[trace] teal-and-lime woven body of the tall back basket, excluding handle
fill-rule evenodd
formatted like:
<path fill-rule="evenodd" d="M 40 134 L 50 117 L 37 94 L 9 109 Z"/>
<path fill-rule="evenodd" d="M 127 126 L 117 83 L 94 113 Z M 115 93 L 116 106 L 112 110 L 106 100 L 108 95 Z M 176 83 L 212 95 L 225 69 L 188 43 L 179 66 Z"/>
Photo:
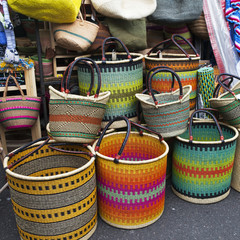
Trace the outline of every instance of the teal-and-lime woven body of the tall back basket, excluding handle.
<path fill-rule="evenodd" d="M 121 56 L 121 55 L 120 55 Z M 139 57 L 140 55 L 137 55 Z M 107 60 L 111 57 L 106 54 Z M 126 116 L 130 120 L 137 119 L 137 99 L 136 93 L 143 90 L 143 66 L 142 59 L 135 61 L 136 56 L 132 54 L 133 62 L 124 62 L 120 59 L 119 63 L 99 64 L 102 77 L 101 91 L 110 91 L 111 96 L 107 103 L 106 112 L 103 118 L 102 127 L 117 116 Z M 89 89 L 91 73 L 88 67 L 82 65 L 78 68 L 78 79 L 80 94 L 86 94 Z M 96 85 L 94 84 L 93 91 Z M 123 127 L 119 124 L 113 127 Z"/>

